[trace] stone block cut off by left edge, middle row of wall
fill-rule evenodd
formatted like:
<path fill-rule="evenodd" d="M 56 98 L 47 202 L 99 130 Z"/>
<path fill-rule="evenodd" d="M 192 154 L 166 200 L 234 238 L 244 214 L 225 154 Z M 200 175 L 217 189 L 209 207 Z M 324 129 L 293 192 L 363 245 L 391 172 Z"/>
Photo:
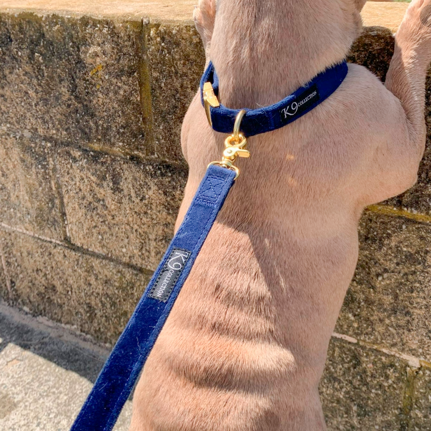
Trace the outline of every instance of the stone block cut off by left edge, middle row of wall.
<path fill-rule="evenodd" d="M 52 147 L 29 131 L 0 131 L 0 222 L 61 240 L 66 231 Z"/>

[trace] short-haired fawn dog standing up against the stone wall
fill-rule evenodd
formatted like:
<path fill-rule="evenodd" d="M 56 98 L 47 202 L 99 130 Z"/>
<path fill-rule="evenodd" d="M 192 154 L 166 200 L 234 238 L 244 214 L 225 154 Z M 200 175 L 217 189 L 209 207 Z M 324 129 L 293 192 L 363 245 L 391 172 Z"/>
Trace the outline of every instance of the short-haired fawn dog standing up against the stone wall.
<path fill-rule="evenodd" d="M 230 108 L 270 105 L 342 61 L 365 0 L 200 0 L 194 19 Z M 133 431 L 325 430 L 318 384 L 358 257 L 365 206 L 417 179 L 425 147 L 431 0 L 413 0 L 383 85 L 365 67 L 250 159 L 136 387 Z M 176 227 L 225 135 L 197 95 Z"/>

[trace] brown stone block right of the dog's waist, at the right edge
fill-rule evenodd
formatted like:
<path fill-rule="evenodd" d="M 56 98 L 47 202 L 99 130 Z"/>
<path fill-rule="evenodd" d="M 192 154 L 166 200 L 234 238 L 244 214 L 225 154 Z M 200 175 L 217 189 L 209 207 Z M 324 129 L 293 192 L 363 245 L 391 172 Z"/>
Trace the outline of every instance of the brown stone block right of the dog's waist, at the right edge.
<path fill-rule="evenodd" d="M 336 332 L 431 359 L 431 225 L 365 212 Z"/>

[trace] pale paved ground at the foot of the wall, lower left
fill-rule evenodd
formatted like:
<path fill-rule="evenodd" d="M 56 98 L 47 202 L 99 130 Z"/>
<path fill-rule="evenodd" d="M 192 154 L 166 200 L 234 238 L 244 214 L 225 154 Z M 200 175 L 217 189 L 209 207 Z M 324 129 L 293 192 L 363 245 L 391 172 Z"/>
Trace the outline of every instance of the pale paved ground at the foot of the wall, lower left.
<path fill-rule="evenodd" d="M 0 430 L 67 431 L 108 350 L 0 303 Z M 131 403 L 115 431 L 126 431 Z"/>

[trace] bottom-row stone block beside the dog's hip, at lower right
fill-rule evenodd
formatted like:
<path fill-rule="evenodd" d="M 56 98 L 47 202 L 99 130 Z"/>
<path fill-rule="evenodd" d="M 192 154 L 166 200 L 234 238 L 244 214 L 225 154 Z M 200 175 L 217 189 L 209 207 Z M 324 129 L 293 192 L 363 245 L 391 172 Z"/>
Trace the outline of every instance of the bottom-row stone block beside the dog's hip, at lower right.
<path fill-rule="evenodd" d="M 320 384 L 328 431 L 406 430 L 406 375 L 400 359 L 332 338 Z"/>

